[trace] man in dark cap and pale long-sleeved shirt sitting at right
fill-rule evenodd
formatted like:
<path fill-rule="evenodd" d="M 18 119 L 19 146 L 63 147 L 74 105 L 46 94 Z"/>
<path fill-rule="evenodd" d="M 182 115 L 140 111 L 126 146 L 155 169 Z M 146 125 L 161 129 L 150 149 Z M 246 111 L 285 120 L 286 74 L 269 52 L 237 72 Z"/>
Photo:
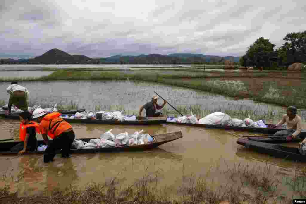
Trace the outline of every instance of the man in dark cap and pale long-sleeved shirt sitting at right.
<path fill-rule="evenodd" d="M 296 138 L 302 130 L 302 120 L 301 117 L 297 115 L 297 108 L 294 106 L 289 106 L 287 108 L 287 114 L 283 115 L 281 121 L 278 124 L 273 125 L 269 128 L 276 128 L 282 124 L 287 123 L 287 130 L 281 130 L 274 134 L 274 136 L 284 136 L 287 140 Z"/>

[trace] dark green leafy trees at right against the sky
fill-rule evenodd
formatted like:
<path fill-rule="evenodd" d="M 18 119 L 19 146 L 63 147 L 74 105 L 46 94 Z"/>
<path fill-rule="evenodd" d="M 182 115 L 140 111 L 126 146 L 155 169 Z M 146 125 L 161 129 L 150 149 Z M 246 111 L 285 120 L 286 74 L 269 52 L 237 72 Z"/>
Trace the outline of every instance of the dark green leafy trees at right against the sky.
<path fill-rule="evenodd" d="M 295 62 L 306 64 L 306 31 L 288 33 L 283 40 L 285 43 L 274 50 L 269 39 L 258 38 L 240 58 L 240 65 L 285 69 Z"/>

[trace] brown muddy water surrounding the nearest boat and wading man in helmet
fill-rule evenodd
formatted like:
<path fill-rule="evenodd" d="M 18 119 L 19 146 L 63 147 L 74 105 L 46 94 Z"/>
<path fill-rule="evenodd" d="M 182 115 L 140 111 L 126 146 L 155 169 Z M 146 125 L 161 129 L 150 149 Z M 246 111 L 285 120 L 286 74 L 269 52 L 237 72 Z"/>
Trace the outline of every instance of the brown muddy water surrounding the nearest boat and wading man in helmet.
<path fill-rule="evenodd" d="M 277 121 L 269 121 L 277 122 Z M 236 144 L 237 138 L 245 134 L 239 131 L 205 129 L 198 127 L 161 124 L 136 125 L 95 125 L 72 124 L 77 138 L 99 137 L 113 129 L 114 134 L 127 131 L 133 133 L 144 129 L 149 134 L 181 131 L 183 138 L 144 152 L 88 153 L 73 154 L 71 158 L 55 157 L 52 163 L 44 164 L 43 156 L 3 155 L 0 156 L 0 177 L 2 185 L 10 185 L 19 195 L 33 195 L 39 191 L 50 191 L 54 187 L 64 189 L 84 187 L 89 182 L 114 180 L 118 187 L 125 187 L 141 179 L 159 189 L 177 191 L 188 182 L 188 178 L 201 176 L 214 180 L 214 184 L 227 183 L 228 177 L 222 172 L 235 166 L 249 165 L 271 169 L 285 175 L 293 175 L 294 168 L 306 167 L 303 163 L 285 161 L 266 154 L 246 150 Z M 18 121 L 0 119 L 1 138 L 18 137 Z M 306 124 L 303 124 L 306 128 Z M 38 135 L 41 139 L 41 135 Z"/>

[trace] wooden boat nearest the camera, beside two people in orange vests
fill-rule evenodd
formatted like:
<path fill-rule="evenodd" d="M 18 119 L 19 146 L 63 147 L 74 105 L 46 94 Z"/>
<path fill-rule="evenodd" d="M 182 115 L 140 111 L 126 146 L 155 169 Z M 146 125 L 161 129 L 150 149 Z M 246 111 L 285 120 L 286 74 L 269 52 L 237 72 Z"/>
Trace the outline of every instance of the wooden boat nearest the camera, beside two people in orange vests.
<path fill-rule="evenodd" d="M 71 149 L 71 153 L 95 153 L 95 152 L 118 152 L 118 151 L 143 151 L 158 147 L 159 145 L 180 139 L 183 137 L 182 132 L 170 132 L 166 134 L 151 135 L 153 141 L 147 144 L 118 146 L 108 148 L 91 148 L 91 149 Z M 96 138 L 80 138 L 84 142 L 89 142 L 90 139 Z M 38 140 L 38 145 L 44 144 L 43 140 Z M 11 152 L 10 149 L 21 142 L 3 142 L 0 143 L 0 154 L 17 154 Z M 59 151 L 58 151 L 59 152 Z M 43 153 L 43 152 L 26 152 L 26 153 Z"/>

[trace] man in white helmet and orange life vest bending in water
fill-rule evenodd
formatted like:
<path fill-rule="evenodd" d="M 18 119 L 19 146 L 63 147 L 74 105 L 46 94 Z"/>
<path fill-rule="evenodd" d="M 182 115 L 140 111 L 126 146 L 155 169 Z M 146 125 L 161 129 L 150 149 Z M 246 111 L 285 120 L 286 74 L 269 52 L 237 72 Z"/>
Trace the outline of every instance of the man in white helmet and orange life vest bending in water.
<path fill-rule="evenodd" d="M 70 148 L 74 140 L 72 126 L 59 116 L 61 113 L 45 113 L 43 109 L 38 108 L 33 111 L 32 117 L 39 123 L 39 129 L 46 144 L 49 143 L 47 135 L 53 139 L 43 155 L 43 162 L 53 161 L 56 150 L 62 150 L 62 157 L 68 158 Z"/>

